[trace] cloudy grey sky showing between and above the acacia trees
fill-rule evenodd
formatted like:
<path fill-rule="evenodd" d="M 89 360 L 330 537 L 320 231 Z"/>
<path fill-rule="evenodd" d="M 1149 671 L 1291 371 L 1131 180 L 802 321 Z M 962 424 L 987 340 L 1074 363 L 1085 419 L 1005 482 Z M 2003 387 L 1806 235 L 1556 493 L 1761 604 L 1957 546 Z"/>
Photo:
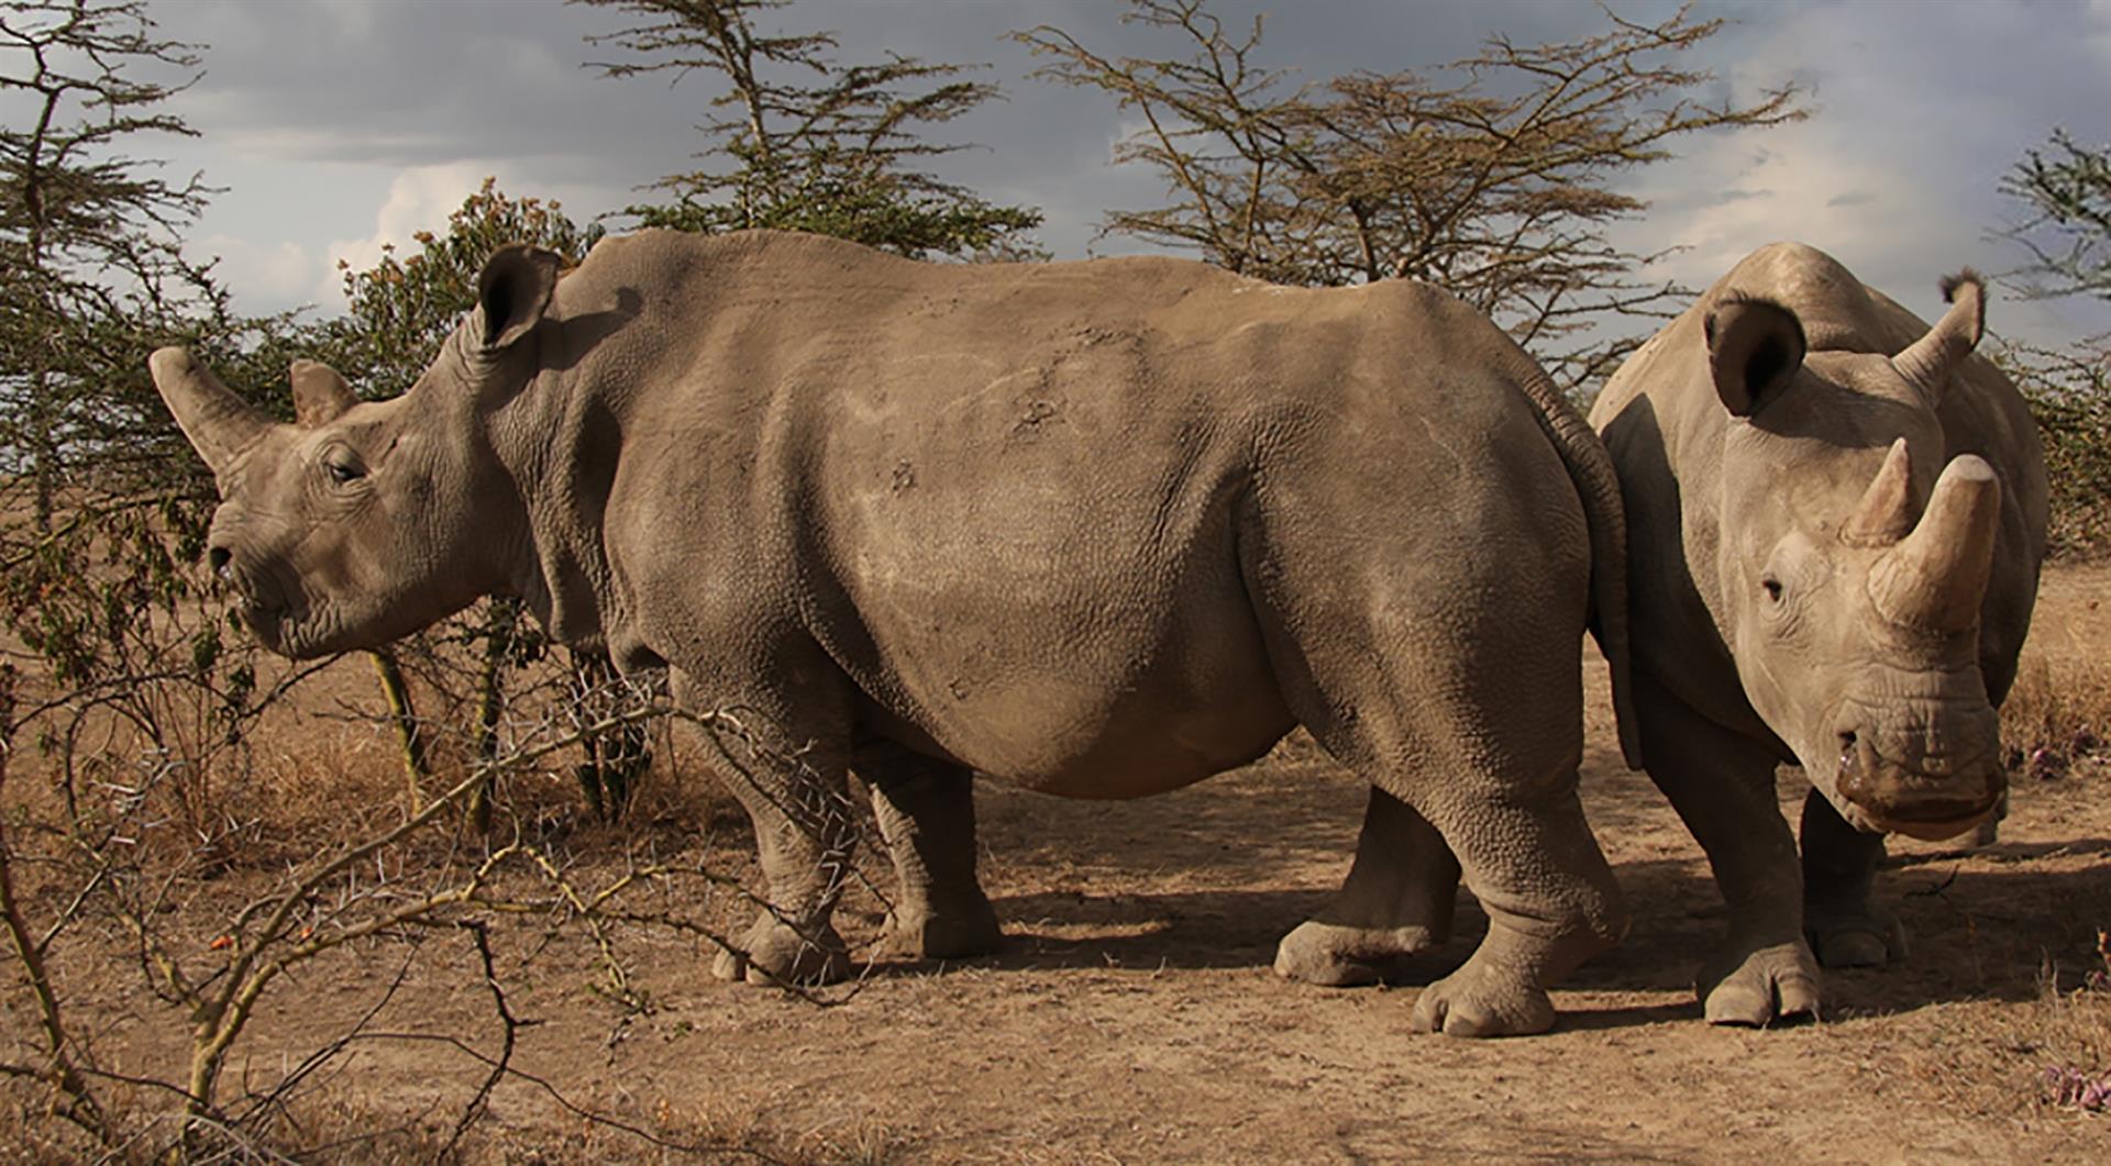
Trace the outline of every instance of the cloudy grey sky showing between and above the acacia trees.
<path fill-rule="evenodd" d="M 1039 207 L 1058 259 L 1134 253 L 1098 238 L 1108 209 L 1155 207 L 1161 181 L 1112 164 L 1115 101 L 1034 80 L 1011 30 L 1047 23 L 1108 55 L 1169 55 L 1112 0 L 794 0 L 766 27 L 834 30 L 840 61 L 904 53 L 986 63 L 1005 99 L 942 127 L 973 143 L 937 169 L 992 202 Z M 1324 82 L 1471 55 L 1490 34 L 1568 40 L 1604 27 L 1581 0 L 1214 0 L 1231 25 L 1267 15 L 1262 61 Z M 1672 4 L 1613 0 L 1628 19 Z M 137 145 L 220 188 L 192 230 L 198 257 L 247 312 L 342 310 L 336 261 L 443 226 L 486 175 L 574 219 L 616 211 L 690 164 L 714 76 L 612 80 L 585 42 L 629 17 L 557 0 L 150 0 L 160 32 L 201 46 L 205 76 L 171 101 L 198 131 Z M 1701 2 L 1733 21 L 1691 57 L 1739 101 L 1796 82 L 1799 124 L 1685 139 L 1678 158 L 1621 190 L 1649 211 L 1619 228 L 1636 249 L 1678 249 L 1649 272 L 1706 287 L 1773 240 L 1811 242 L 1923 316 L 1938 276 L 2022 261 L 1993 228 L 2018 205 L 2001 175 L 2054 127 L 2111 141 L 2111 0 Z M 2100 304 L 1999 299 L 1989 325 L 2062 344 L 2111 329 Z"/>

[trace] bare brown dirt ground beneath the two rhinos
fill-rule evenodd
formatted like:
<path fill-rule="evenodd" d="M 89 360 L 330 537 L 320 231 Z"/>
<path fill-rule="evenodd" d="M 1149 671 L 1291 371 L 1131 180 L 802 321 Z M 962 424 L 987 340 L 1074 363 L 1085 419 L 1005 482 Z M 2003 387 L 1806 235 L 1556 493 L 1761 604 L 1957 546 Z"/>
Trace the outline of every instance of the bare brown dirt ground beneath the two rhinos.
<path fill-rule="evenodd" d="M 2111 609 L 2098 599 L 2111 569 L 2054 571 L 2031 654 L 2103 660 Z M 1649 780 L 1617 763 L 1602 689 L 1590 730 L 1585 805 L 1636 924 L 1556 991 L 1549 1035 L 1408 1031 L 1414 985 L 1480 938 L 1471 900 L 1450 945 L 1397 987 L 1330 991 L 1271 972 L 1275 940 L 1347 871 L 1364 805 L 1362 786 L 1292 738 L 1248 770 L 1134 803 L 980 786 L 984 877 L 1009 949 L 878 964 L 836 1006 L 714 983 L 697 942 L 663 936 L 625 942 L 652 997 L 625 1012 L 591 991 L 585 945 L 530 951 L 532 936 L 513 936 L 500 966 L 530 1023 L 513 1065 L 564 1103 L 528 1080 L 500 1084 L 473 1155 L 682 1158 L 570 1103 L 673 1143 L 828 1162 L 2111 1160 L 2111 1115 L 2037 1103 L 2073 1023 L 2048 970 L 2075 987 L 2111 928 L 2111 774 L 2022 778 L 1991 848 L 1896 843 L 1879 896 L 1900 911 L 1910 959 L 1828 972 L 1822 1023 L 1716 1029 L 1691 991 L 1723 926 L 1714 883 Z M 1784 774 L 1790 814 L 1801 797 Z M 739 822 L 716 831 L 722 869 L 752 877 L 747 846 Z M 728 896 L 722 915 L 745 907 Z M 842 913 L 853 945 L 880 921 L 870 898 Z M 492 999 L 454 947 L 376 1031 L 496 1052 Z M 281 985 L 236 1065 L 283 1069 L 393 972 L 376 949 Z M 103 1004 L 106 1048 L 146 1056 L 154 1004 Z M 483 1069 L 445 1044 L 372 1039 L 331 1073 L 348 1122 L 443 1130 Z"/>

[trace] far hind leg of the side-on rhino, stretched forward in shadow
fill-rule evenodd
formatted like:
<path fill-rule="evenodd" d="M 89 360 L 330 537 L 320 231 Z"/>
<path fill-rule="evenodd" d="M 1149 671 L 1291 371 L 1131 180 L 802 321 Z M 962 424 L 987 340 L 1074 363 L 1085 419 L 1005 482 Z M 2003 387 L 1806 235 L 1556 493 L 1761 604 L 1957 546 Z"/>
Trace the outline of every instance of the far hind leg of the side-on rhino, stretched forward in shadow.
<path fill-rule="evenodd" d="M 1391 978 L 1450 936 L 1459 858 L 1412 805 L 1370 789 L 1355 862 L 1334 898 L 1275 949 L 1275 972 L 1313 985 Z"/>

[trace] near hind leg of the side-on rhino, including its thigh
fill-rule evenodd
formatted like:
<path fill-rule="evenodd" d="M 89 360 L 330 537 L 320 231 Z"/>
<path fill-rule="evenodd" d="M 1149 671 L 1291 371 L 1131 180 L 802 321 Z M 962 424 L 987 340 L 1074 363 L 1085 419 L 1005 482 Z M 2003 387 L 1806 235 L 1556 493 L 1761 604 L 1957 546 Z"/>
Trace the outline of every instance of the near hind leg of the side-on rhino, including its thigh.
<path fill-rule="evenodd" d="M 1421 510 L 1446 514 L 1446 491 L 1471 489 L 1486 529 L 1535 531 L 1558 506 L 1514 483 L 1480 491 L 1484 483 L 1459 481 L 1425 481 Z M 1488 915 L 1473 955 L 1416 995 L 1410 1027 L 1473 1037 L 1545 1031 L 1547 989 L 1628 928 L 1619 883 L 1577 799 L 1583 552 L 1480 527 L 1454 542 L 1454 531 L 1429 523 L 1345 536 L 1336 514 L 1397 514 L 1400 481 L 1326 483 L 1338 495 L 1324 521 L 1288 510 L 1309 502 L 1302 491 L 1256 495 L 1260 512 L 1239 550 L 1290 713 L 1336 761 L 1431 827 Z M 1497 512 L 1505 504 L 1518 510 L 1514 525 Z M 1366 879 L 1412 890 L 1425 926 L 1438 924 L 1438 854 L 1389 856 L 1406 871 L 1366 867 Z M 1414 864 L 1425 864 L 1421 875 Z M 1292 959 L 1305 945 L 1296 940 Z"/>

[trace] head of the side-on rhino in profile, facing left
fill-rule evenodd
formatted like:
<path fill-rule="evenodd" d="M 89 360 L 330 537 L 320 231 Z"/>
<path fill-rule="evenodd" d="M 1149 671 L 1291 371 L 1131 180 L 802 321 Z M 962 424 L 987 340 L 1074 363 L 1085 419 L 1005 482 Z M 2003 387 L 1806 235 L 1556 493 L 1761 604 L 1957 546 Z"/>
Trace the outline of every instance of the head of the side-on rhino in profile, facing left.
<path fill-rule="evenodd" d="M 528 527 L 486 417 L 534 375 L 528 337 L 555 280 L 547 251 L 492 255 L 477 308 L 393 401 L 359 401 L 329 367 L 296 361 L 293 424 L 190 352 L 154 352 L 154 388 L 220 487 L 209 563 L 266 647 L 378 647 L 509 586 Z"/>

